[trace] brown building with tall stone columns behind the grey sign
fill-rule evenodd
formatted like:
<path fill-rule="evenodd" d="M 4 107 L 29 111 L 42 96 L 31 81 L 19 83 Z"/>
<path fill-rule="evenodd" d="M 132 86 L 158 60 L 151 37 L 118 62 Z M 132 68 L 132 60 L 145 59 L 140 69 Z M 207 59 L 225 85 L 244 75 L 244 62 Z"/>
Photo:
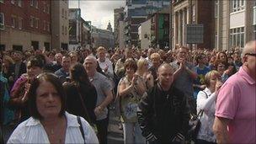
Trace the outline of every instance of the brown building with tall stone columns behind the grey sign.
<path fill-rule="evenodd" d="M 203 24 L 203 43 L 192 45 L 198 48 L 214 48 L 214 2 L 204 0 L 173 0 L 172 13 L 172 47 L 188 45 L 186 40 L 186 24 Z M 191 45 L 188 45 L 190 48 Z"/>

